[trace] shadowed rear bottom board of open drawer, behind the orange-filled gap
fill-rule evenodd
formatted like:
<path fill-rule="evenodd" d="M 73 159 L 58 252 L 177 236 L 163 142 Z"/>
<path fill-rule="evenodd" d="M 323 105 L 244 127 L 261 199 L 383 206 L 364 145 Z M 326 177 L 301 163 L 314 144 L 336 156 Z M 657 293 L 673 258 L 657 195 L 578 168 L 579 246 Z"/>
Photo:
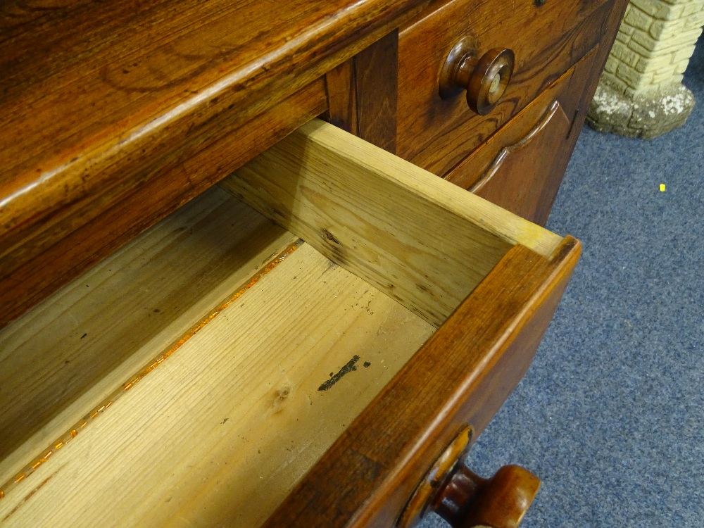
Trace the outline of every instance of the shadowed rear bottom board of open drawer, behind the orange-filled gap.
<path fill-rule="evenodd" d="M 0 486 L 296 239 L 214 188 L 0 330 Z"/>

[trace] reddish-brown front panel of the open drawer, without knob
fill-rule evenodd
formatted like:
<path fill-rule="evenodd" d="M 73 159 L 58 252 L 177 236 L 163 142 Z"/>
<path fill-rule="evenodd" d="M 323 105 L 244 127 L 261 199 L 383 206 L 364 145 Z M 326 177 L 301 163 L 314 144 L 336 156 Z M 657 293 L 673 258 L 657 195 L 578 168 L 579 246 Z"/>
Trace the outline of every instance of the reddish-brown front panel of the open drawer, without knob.
<path fill-rule="evenodd" d="M 432 460 L 520 380 L 578 258 L 570 237 L 549 259 L 511 249 L 265 526 L 392 526 Z"/>

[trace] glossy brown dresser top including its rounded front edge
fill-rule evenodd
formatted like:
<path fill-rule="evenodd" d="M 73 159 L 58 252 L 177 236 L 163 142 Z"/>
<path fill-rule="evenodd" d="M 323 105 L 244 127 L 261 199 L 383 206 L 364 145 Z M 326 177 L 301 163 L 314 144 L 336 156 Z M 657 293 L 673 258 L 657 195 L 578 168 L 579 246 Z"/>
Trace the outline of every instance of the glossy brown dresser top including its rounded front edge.
<path fill-rule="evenodd" d="M 134 177 L 215 118 L 261 113 L 417 4 L 3 2 L 0 256 L 15 231 Z"/>

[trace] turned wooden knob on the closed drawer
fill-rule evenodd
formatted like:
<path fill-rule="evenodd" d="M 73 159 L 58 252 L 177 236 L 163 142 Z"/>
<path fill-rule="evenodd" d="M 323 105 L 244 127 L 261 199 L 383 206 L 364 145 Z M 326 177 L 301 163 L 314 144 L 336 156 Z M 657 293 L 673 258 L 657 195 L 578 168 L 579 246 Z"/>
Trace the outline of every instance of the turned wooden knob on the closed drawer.
<path fill-rule="evenodd" d="M 451 99 L 465 89 L 467 105 L 486 115 L 506 92 L 514 64 L 510 49 L 494 48 L 478 57 L 476 41 L 464 37 L 453 46 L 440 71 L 440 96 Z"/>

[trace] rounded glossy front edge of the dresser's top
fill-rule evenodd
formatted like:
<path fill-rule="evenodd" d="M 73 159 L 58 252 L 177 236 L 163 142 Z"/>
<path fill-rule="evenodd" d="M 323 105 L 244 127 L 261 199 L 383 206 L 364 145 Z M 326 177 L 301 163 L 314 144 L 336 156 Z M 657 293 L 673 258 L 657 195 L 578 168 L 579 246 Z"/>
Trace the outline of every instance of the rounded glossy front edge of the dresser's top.
<path fill-rule="evenodd" d="M 295 42 L 268 54 L 265 64 L 240 68 L 227 76 L 227 82 L 218 82 L 217 89 L 203 87 L 191 97 L 192 103 L 179 101 L 176 109 L 166 109 L 108 139 L 96 139 L 80 153 L 44 160 L 39 172 L 17 175 L 22 187 L 0 196 L 0 268 L 8 254 L 23 253 L 12 259 L 22 265 L 78 230 L 92 220 L 86 212 L 96 204 L 105 210 L 106 204 L 118 203 L 124 196 L 117 195 L 125 187 L 144 184 L 145 165 L 168 163 L 185 146 L 212 141 L 213 128 L 221 119 L 245 125 L 394 31 L 427 3 L 358 2 L 322 21 L 321 27 L 306 28 Z M 70 227 L 58 226 L 69 217 Z M 6 273 L 0 269 L 0 275 Z"/>

